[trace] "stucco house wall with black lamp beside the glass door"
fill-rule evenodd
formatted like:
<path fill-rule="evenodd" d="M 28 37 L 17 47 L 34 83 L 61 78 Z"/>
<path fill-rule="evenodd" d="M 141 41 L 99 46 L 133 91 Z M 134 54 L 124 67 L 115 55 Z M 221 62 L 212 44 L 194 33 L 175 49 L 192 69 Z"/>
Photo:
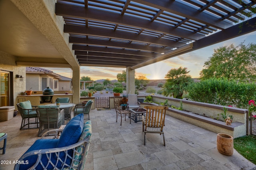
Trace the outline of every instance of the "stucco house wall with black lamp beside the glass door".
<path fill-rule="evenodd" d="M 18 102 L 17 95 L 20 95 L 20 92 L 26 90 L 26 67 L 18 67 L 15 62 L 15 57 L 3 51 L 0 51 L 0 61 L 1 70 L 13 72 L 13 101 L 14 106 L 16 106 Z M 16 74 L 22 75 L 22 77 L 24 77 L 23 81 L 16 79 Z"/>

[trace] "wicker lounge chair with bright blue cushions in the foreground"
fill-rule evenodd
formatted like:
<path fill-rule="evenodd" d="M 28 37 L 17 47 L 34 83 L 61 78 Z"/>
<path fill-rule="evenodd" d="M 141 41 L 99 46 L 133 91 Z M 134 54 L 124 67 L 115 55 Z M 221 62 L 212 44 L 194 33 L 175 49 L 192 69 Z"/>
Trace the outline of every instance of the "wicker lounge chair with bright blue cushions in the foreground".
<path fill-rule="evenodd" d="M 19 159 L 26 164 L 15 164 L 14 170 L 54 169 L 82 170 L 90 144 L 91 121 L 84 122 L 83 114 L 74 117 L 64 129 L 50 130 L 55 132 L 52 139 L 38 139 Z M 58 132 L 62 131 L 60 138 Z M 46 132 L 45 134 L 47 134 Z"/>

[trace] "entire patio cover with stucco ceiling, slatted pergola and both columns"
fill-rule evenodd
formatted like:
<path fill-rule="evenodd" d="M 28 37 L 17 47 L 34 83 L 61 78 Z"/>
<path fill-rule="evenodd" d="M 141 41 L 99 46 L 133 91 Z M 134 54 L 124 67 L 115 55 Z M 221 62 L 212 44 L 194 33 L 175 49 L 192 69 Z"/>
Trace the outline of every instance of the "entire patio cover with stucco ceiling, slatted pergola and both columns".
<path fill-rule="evenodd" d="M 56 2 L 56 3 L 55 3 Z M 0 51 L 18 66 L 134 69 L 256 30 L 256 0 L 2 0 Z"/>

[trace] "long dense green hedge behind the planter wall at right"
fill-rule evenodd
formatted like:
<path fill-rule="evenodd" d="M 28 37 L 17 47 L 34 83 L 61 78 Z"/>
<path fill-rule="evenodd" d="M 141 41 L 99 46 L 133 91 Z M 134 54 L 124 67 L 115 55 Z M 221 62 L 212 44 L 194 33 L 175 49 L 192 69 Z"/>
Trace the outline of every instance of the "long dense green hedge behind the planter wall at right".
<path fill-rule="evenodd" d="M 193 101 L 216 105 L 232 105 L 248 109 L 248 101 L 256 99 L 256 84 L 243 83 L 225 78 L 212 78 L 192 83 L 187 87 L 188 97 Z"/>

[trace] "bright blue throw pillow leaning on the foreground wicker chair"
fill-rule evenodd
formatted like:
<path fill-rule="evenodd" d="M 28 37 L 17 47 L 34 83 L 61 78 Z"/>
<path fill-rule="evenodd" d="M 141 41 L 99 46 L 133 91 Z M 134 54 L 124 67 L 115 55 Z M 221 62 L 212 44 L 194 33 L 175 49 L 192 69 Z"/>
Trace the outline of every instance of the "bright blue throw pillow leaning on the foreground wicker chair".
<path fill-rule="evenodd" d="M 57 148 L 75 144 L 82 134 L 84 128 L 84 114 L 76 115 L 63 129 Z"/>

